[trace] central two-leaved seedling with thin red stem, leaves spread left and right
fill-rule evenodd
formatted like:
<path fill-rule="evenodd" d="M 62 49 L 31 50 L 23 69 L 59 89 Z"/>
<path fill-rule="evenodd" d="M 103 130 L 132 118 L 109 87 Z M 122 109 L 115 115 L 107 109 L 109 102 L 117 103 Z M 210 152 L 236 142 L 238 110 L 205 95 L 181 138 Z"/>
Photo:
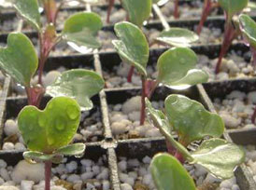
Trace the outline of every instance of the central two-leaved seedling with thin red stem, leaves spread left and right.
<path fill-rule="evenodd" d="M 157 62 L 157 79 L 149 79 L 146 71 L 149 45 L 145 35 L 137 26 L 129 22 L 117 23 L 115 32 L 120 40 L 113 40 L 112 43 L 121 60 L 134 66 L 141 76 L 141 125 L 145 121 L 145 98 L 150 98 L 160 84 L 169 88 L 189 88 L 207 81 L 206 72 L 194 68 L 197 57 L 188 47 L 173 47 L 165 51 Z"/>

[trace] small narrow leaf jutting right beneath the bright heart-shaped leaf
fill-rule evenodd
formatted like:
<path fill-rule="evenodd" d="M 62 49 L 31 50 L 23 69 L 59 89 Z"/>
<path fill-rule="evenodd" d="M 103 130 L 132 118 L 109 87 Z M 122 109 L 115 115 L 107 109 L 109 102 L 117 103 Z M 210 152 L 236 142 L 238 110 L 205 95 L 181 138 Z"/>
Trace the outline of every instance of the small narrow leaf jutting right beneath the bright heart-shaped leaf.
<path fill-rule="evenodd" d="M 55 153 L 61 154 L 64 156 L 78 156 L 82 155 L 85 151 L 84 143 L 73 143 L 62 148 L 59 148 Z"/>

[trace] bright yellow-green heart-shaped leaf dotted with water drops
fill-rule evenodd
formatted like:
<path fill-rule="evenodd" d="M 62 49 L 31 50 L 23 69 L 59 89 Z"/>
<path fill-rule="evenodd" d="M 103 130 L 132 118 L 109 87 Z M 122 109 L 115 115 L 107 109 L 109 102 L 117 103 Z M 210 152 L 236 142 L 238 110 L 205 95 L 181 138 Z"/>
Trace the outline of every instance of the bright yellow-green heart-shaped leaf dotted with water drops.
<path fill-rule="evenodd" d="M 25 106 L 18 115 L 18 126 L 28 148 L 44 154 L 71 142 L 78 130 L 80 107 L 68 97 L 53 98 L 45 110 Z"/>

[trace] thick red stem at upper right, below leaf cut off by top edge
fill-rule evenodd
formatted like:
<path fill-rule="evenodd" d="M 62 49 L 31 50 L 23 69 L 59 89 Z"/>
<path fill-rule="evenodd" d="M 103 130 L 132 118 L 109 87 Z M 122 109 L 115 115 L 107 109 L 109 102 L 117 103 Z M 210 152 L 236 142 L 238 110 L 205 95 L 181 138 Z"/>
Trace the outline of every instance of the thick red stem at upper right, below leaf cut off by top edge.
<path fill-rule="evenodd" d="M 226 21 L 226 25 L 225 25 L 224 39 L 223 39 L 222 46 L 220 49 L 219 60 L 217 62 L 216 68 L 215 68 L 216 75 L 220 73 L 221 61 L 222 61 L 223 57 L 226 55 L 234 38 L 235 38 L 235 29 L 233 27 L 232 21 L 228 20 L 228 21 Z"/>

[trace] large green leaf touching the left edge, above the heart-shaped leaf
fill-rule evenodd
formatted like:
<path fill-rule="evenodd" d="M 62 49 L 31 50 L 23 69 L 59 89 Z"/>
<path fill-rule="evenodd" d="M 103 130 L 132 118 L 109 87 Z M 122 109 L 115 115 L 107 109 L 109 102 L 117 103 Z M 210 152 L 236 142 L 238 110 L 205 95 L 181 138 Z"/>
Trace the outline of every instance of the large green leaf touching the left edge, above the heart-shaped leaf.
<path fill-rule="evenodd" d="M 29 38 L 21 33 L 7 36 L 7 47 L 0 47 L 0 67 L 22 86 L 29 87 L 36 73 L 38 58 Z"/>

